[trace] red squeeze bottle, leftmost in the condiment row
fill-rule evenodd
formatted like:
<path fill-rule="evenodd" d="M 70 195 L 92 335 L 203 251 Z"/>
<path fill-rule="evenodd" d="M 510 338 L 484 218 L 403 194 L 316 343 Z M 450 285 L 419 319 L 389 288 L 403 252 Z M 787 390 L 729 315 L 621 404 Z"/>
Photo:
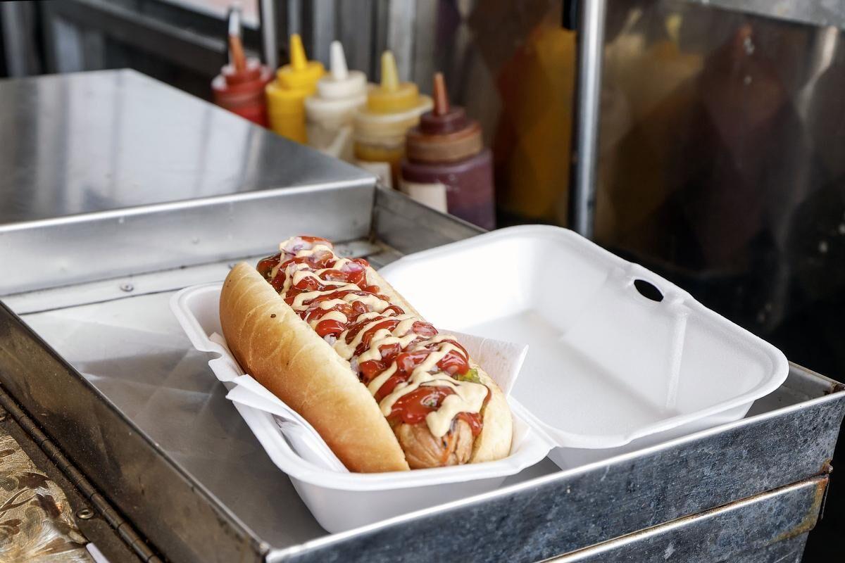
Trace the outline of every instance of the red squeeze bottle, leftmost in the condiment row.
<path fill-rule="evenodd" d="M 221 68 L 221 73 L 211 81 L 214 102 L 261 127 L 267 127 L 264 86 L 273 78 L 273 73 L 258 59 L 244 55 L 237 10 L 232 12 L 229 22 L 230 62 Z"/>

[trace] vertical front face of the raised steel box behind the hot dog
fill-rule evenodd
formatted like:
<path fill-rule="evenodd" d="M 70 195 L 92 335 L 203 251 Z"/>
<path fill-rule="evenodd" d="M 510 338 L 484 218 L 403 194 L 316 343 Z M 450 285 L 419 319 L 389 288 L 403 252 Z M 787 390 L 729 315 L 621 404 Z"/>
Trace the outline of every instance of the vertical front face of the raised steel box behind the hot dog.
<path fill-rule="evenodd" d="M 14 263 L 0 295 L 258 254 L 313 225 L 333 240 L 363 238 L 374 189 L 362 178 L 0 225 L 0 257 Z M 286 221 L 276 220 L 281 205 Z M 45 276 L 38 257 L 55 253 L 57 241 L 57 273 Z"/>

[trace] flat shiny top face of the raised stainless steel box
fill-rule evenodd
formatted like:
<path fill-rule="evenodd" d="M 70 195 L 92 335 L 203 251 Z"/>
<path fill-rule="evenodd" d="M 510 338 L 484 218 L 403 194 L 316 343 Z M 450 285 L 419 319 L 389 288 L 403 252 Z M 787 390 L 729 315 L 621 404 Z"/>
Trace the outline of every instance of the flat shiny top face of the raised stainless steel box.
<path fill-rule="evenodd" d="M 0 80 L 0 225 L 368 181 L 133 70 Z"/>

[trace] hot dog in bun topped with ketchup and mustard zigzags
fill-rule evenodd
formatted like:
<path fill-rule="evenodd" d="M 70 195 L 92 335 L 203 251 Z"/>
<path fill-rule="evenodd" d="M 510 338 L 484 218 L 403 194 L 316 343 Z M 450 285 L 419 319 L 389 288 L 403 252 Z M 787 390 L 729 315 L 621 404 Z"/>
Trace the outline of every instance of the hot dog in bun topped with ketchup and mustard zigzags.
<path fill-rule="evenodd" d="M 223 284 L 223 335 L 238 362 L 296 409 L 351 471 L 505 457 L 504 394 L 362 258 L 297 236 Z"/>

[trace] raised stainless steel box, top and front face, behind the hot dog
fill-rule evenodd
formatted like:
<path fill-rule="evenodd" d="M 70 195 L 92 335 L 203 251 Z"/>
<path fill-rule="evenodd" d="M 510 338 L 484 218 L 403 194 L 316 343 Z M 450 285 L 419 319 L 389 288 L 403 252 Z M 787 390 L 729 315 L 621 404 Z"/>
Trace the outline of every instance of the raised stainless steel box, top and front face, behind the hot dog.
<path fill-rule="evenodd" d="M 373 176 L 134 71 L 0 80 L 0 138 L 0 295 L 368 233 Z"/>

